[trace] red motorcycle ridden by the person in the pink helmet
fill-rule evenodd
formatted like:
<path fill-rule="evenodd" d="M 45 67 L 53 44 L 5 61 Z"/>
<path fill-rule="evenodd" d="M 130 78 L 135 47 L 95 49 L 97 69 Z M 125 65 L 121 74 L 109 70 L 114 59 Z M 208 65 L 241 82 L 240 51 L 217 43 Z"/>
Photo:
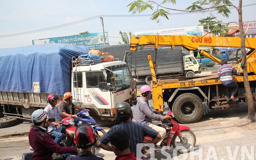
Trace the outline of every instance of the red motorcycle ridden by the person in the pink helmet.
<path fill-rule="evenodd" d="M 161 146 L 167 146 L 166 149 L 170 149 L 172 145 L 174 149 L 178 150 L 179 153 L 188 153 L 196 144 L 196 135 L 190 127 L 180 126 L 178 122 L 174 121 L 172 118 L 171 111 L 164 111 L 163 116 L 169 115 L 171 118 L 169 120 L 164 120 L 162 127 L 166 128 L 166 136 L 161 143 Z M 145 137 L 144 143 L 150 143 L 152 138 Z"/>

